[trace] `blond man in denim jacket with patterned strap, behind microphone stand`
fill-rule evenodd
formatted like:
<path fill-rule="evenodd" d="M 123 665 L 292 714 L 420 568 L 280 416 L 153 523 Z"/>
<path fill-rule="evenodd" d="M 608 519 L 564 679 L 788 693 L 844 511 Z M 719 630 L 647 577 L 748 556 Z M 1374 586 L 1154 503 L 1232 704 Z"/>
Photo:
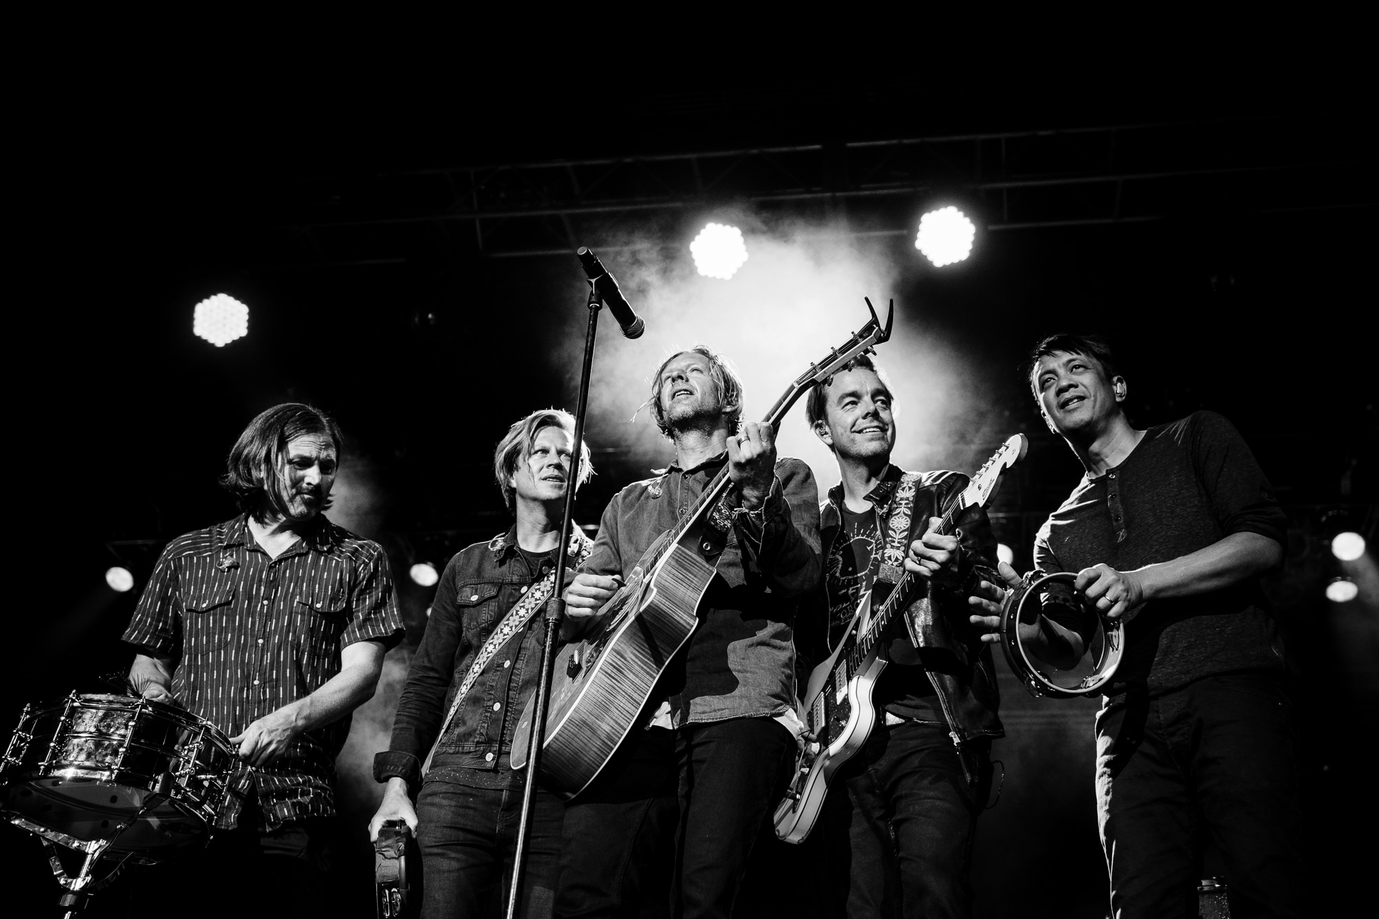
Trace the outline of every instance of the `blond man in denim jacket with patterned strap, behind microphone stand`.
<path fill-rule="evenodd" d="M 550 408 L 521 418 L 498 443 L 494 476 L 514 524 L 445 566 L 392 741 L 374 760 L 387 789 L 370 833 L 376 839 L 385 820 L 405 820 L 416 833 L 423 919 L 483 916 L 507 902 L 525 781 L 509 751 L 541 679 L 574 433 L 570 413 Z M 590 475 L 585 446 L 576 487 Z M 568 570 L 587 545 L 576 528 Z M 538 789 L 532 807 L 521 915 L 538 919 L 550 915 L 560 875 L 564 804 Z"/>

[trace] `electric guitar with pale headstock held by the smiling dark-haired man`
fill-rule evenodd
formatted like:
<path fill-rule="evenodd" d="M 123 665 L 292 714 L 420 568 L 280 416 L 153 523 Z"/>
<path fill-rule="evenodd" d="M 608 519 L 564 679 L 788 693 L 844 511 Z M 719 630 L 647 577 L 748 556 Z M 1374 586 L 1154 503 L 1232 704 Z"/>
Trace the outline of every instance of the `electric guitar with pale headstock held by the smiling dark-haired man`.
<path fill-rule="evenodd" d="M 952 533 L 954 520 L 967 508 L 986 506 L 1000 487 L 1001 476 L 1025 457 L 1027 448 L 1025 435 L 1007 440 L 943 515 L 938 533 Z M 829 781 L 872 735 L 877 716 L 872 690 L 887 664 L 877 657 L 881 635 L 910 606 L 924 582 L 920 575 L 906 571 L 876 610 L 870 610 L 872 592 L 867 591 L 858 603 L 845 638 L 829 660 L 809 673 L 800 712 L 808 727 L 808 742 L 796 762 L 790 789 L 775 811 L 776 836 L 785 842 L 804 842 L 823 807 Z"/>

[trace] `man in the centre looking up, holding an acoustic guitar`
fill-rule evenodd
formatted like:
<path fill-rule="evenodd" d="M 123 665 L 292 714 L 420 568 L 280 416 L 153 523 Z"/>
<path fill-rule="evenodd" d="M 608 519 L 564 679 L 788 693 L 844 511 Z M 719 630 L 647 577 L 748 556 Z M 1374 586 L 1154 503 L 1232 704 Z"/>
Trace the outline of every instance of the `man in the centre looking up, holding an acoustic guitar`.
<path fill-rule="evenodd" d="M 793 621 L 821 575 L 814 476 L 798 460 L 776 460 L 771 425 L 741 419 L 742 384 L 705 346 L 663 362 L 648 403 L 674 443 L 674 462 L 612 498 L 589 560 L 565 591 L 568 614 L 576 624 L 592 620 L 724 465 L 735 488 L 709 513 L 709 526 L 725 548 L 699 603 L 699 625 L 663 679 L 666 705 L 654 722 L 662 727 L 634 730 L 619 753 L 632 764 L 567 809 L 561 916 L 637 915 L 654 900 L 647 879 L 662 833 L 674 825 L 656 764 L 669 766 L 672 749 L 672 908 L 677 916 L 728 916 L 801 729 Z"/>

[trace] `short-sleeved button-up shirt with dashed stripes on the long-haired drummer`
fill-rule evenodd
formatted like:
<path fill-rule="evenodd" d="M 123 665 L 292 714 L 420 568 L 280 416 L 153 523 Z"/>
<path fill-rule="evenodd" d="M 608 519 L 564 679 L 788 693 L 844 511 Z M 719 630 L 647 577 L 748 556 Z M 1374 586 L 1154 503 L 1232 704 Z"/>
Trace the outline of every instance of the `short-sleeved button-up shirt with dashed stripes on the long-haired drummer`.
<path fill-rule="evenodd" d="M 341 649 L 403 638 L 383 549 L 320 519 L 276 559 L 248 516 L 168 544 L 124 640 L 177 662 L 172 695 L 225 735 L 310 695 L 341 671 Z M 239 822 L 256 791 L 269 829 L 335 813 L 335 758 L 350 716 L 306 731 L 263 767 L 240 763 L 217 827 Z"/>

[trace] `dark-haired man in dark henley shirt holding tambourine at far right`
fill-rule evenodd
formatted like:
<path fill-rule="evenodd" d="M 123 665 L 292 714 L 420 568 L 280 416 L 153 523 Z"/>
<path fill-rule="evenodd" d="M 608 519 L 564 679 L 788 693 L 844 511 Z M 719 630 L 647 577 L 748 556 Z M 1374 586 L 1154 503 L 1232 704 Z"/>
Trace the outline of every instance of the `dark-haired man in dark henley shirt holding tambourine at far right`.
<path fill-rule="evenodd" d="M 1085 602 L 1125 621 L 1096 716 L 1114 915 L 1196 916 L 1208 832 L 1233 915 L 1307 915 L 1296 740 L 1259 585 L 1281 564 L 1287 530 L 1263 471 L 1209 411 L 1135 429 L 1098 337 L 1041 341 L 1029 384 L 1087 471 L 1040 530 L 1034 564 L 1076 571 Z M 1003 569 L 1007 584 L 1014 574 Z M 997 596 L 974 599 L 986 613 L 975 622 L 998 625 Z"/>

